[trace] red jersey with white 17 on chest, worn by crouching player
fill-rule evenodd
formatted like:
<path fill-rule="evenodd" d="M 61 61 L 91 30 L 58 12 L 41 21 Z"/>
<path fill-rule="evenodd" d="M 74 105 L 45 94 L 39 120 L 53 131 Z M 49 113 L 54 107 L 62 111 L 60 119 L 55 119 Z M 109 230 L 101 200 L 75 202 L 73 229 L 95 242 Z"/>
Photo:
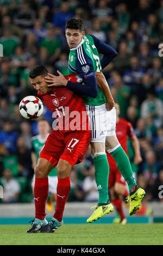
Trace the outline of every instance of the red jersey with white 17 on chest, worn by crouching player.
<path fill-rule="evenodd" d="M 67 80 L 81 83 L 79 75 L 65 76 Z M 82 97 L 74 94 L 67 87 L 53 87 L 49 93 L 37 93 L 46 107 L 52 111 L 53 117 L 57 119 L 56 130 L 74 131 L 90 130 L 89 120 Z M 55 129 L 55 127 L 53 127 Z"/>

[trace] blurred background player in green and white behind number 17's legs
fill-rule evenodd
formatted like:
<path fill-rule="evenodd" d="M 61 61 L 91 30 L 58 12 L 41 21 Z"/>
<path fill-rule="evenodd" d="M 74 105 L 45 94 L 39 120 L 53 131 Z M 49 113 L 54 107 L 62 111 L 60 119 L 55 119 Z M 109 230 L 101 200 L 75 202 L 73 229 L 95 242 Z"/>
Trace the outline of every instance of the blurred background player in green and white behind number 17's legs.
<path fill-rule="evenodd" d="M 39 120 L 37 123 L 37 130 L 39 132 L 39 135 L 36 135 L 32 137 L 32 167 L 35 168 L 37 164 L 37 160 L 39 159 L 40 151 L 43 147 L 43 145 L 46 142 L 46 139 L 49 135 L 49 131 L 51 130 L 51 127 L 49 126 L 49 123 L 47 120 L 42 119 Z M 35 182 L 35 175 L 32 179 L 32 188 L 34 188 L 34 182 Z M 53 202 L 56 202 L 56 194 L 57 194 L 57 167 L 51 170 L 51 172 L 48 174 L 48 184 L 49 184 L 49 199 L 47 200 L 47 210 L 53 211 Z"/>

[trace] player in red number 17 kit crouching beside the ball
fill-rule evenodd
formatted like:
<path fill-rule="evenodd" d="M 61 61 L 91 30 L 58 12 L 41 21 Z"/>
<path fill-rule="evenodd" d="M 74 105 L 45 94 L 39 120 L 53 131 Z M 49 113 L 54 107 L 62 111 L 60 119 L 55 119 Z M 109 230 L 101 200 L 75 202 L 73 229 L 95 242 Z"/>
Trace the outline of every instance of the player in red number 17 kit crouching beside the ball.
<path fill-rule="evenodd" d="M 84 101 L 65 87 L 48 87 L 44 66 L 35 66 L 29 73 L 30 83 L 38 91 L 53 116 L 57 119 L 53 131 L 42 148 L 35 167 L 35 219 L 27 233 L 53 233 L 63 223 L 62 215 L 70 193 L 69 174 L 74 164 L 82 162 L 91 142 L 91 130 Z M 66 79 L 81 82 L 70 75 Z M 48 197 L 48 174 L 57 166 L 57 206 L 51 221 L 47 222 L 45 205 Z"/>

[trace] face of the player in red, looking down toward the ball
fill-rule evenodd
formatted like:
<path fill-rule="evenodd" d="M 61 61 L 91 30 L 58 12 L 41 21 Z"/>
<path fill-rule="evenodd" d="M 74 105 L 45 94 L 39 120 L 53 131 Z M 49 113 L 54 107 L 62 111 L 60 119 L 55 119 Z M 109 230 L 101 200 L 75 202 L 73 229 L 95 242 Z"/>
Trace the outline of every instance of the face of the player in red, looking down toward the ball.
<path fill-rule="evenodd" d="M 47 86 L 44 76 L 36 76 L 35 78 L 30 78 L 30 83 L 38 92 L 45 94 L 48 93 L 52 88 Z"/>

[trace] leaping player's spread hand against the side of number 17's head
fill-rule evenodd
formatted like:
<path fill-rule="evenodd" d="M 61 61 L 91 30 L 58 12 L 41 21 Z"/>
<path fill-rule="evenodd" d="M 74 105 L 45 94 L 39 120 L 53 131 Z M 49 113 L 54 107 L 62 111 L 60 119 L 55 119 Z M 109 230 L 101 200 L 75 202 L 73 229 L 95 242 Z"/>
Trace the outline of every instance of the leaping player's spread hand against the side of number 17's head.
<path fill-rule="evenodd" d="M 47 76 L 45 76 L 45 82 L 48 83 L 48 87 L 52 86 L 67 86 L 67 80 L 64 77 L 64 75 L 61 74 L 59 70 L 57 70 L 57 73 L 59 76 L 54 76 L 53 74 L 48 73 Z"/>

